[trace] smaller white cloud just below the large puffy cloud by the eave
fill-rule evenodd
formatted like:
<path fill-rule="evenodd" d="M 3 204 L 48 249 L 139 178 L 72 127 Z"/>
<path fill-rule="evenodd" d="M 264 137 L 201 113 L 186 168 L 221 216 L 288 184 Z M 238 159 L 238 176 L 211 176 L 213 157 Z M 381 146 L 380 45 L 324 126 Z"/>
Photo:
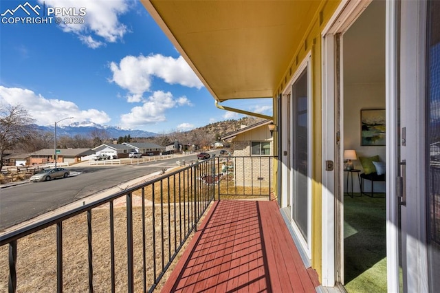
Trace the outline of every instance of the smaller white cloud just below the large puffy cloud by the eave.
<path fill-rule="evenodd" d="M 190 101 L 184 96 L 173 98 L 169 91 L 155 91 L 144 101 L 144 105 L 133 107 L 130 113 L 122 114 L 121 124 L 130 128 L 162 122 L 166 120 L 166 110 L 182 105 L 190 105 Z"/>

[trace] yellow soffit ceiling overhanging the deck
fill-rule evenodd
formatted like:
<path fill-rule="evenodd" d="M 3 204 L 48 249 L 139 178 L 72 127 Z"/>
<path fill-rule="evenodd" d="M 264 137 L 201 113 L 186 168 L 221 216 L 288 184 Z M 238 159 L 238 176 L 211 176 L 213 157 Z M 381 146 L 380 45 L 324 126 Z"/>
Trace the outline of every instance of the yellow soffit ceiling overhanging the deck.
<path fill-rule="evenodd" d="M 222 102 L 274 96 L 323 1 L 141 2 Z"/>

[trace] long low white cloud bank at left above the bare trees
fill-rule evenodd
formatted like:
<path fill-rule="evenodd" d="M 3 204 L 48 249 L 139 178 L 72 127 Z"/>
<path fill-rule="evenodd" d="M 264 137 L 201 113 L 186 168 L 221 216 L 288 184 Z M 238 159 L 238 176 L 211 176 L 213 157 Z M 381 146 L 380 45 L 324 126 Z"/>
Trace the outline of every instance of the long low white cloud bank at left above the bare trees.
<path fill-rule="evenodd" d="M 66 117 L 74 117 L 74 119 L 66 120 L 65 124 L 75 121 L 91 121 L 104 124 L 110 121 L 109 116 L 104 111 L 96 109 L 81 110 L 74 102 L 46 99 L 30 89 L 18 87 L 0 86 L 0 103 L 21 105 L 39 125 L 52 125 L 57 120 Z"/>

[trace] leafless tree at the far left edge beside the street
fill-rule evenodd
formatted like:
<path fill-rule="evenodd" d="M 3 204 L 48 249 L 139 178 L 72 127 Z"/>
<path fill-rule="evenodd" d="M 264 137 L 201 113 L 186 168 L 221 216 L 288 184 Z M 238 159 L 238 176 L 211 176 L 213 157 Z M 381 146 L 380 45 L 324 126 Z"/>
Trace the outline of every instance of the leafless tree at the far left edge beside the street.
<path fill-rule="evenodd" d="M 28 111 L 21 105 L 0 105 L 0 170 L 6 149 L 13 149 L 15 143 L 32 135 L 34 126 Z"/>

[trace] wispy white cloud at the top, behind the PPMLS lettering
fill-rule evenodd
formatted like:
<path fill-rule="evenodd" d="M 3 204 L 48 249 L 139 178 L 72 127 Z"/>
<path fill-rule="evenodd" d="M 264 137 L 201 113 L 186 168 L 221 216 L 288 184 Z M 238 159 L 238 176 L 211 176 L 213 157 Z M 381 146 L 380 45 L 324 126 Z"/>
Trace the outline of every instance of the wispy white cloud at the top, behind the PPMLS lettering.
<path fill-rule="evenodd" d="M 121 14 L 129 10 L 127 0 L 39 0 L 39 2 L 45 2 L 48 8 L 75 8 L 76 14 L 80 13 L 80 8 L 85 8 L 84 23 L 59 26 L 64 32 L 76 34 L 85 45 L 93 49 L 104 45 L 102 41 L 96 40 L 96 36 L 106 42 L 115 43 L 129 31 L 118 20 Z"/>

